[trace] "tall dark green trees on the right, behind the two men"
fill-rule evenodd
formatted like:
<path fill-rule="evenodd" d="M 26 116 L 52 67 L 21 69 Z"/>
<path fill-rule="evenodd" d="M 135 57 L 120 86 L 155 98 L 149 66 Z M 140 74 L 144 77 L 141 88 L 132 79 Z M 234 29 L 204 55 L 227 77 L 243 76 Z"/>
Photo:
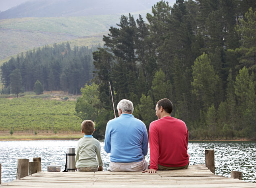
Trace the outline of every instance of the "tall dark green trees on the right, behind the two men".
<path fill-rule="evenodd" d="M 160 1 L 146 16 L 122 16 L 93 52 L 95 84 L 85 85 L 76 111 L 104 136 L 114 103 L 133 101 L 147 127 L 162 98 L 190 139 L 256 138 L 256 1 Z"/>

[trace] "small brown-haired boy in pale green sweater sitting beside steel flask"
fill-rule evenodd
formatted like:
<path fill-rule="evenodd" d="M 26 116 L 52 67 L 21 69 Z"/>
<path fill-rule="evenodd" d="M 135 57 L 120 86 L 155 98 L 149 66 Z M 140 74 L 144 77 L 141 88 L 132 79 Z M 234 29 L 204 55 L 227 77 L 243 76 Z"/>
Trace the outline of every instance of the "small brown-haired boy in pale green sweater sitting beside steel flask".
<path fill-rule="evenodd" d="M 83 121 L 81 131 L 84 136 L 80 138 L 77 143 L 77 153 L 75 157 L 77 170 L 102 171 L 103 162 L 100 156 L 100 142 L 92 136 L 95 131 L 94 122 L 91 120 Z"/>

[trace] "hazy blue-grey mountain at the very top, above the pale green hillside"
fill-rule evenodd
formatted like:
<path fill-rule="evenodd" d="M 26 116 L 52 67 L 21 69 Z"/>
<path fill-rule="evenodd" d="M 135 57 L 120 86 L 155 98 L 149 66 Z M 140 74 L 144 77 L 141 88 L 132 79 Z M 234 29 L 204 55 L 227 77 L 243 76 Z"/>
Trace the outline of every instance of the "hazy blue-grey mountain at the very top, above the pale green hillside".
<path fill-rule="evenodd" d="M 150 9 L 159 0 L 34 0 L 0 12 L 0 19 L 123 14 Z M 174 4 L 175 0 L 170 0 Z"/>

